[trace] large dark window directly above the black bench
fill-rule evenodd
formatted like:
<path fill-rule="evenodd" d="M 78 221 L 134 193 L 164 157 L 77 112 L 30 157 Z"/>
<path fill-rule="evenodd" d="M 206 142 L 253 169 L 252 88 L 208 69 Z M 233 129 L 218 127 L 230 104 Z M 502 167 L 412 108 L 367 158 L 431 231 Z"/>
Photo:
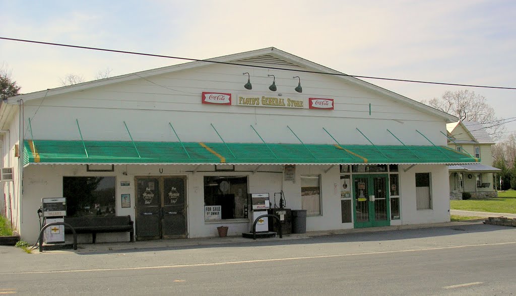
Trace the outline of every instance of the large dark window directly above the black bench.
<path fill-rule="evenodd" d="M 67 217 L 116 216 L 115 177 L 63 177 Z"/>

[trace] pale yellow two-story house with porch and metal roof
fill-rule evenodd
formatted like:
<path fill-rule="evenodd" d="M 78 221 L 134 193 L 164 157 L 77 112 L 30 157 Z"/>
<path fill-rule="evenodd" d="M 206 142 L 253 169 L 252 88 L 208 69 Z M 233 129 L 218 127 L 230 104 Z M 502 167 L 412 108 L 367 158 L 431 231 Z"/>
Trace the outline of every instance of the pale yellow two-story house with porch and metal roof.
<path fill-rule="evenodd" d="M 463 192 L 472 198 L 496 197 L 493 175 L 501 170 L 493 168 L 491 145 L 493 139 L 486 129 L 475 121 L 458 121 L 446 124 L 448 147 L 471 155 L 479 162 L 448 166 L 450 199 L 462 199 Z"/>

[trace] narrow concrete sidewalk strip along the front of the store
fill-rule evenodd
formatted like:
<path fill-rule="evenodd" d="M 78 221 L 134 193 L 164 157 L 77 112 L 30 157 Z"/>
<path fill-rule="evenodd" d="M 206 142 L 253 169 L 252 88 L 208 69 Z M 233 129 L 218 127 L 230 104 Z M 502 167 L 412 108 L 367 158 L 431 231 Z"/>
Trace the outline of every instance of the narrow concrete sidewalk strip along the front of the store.
<path fill-rule="evenodd" d="M 481 224 L 482 222 L 442 222 L 442 223 L 431 223 L 431 224 L 417 224 L 417 225 L 399 225 L 399 226 L 383 226 L 383 227 L 370 227 L 370 228 L 353 228 L 353 229 L 336 229 L 332 231 L 312 231 L 305 234 L 289 234 L 284 235 L 283 238 L 279 236 L 273 238 L 262 238 L 262 239 L 249 239 L 241 236 L 231 237 L 208 237 L 208 238 L 186 238 L 186 239 L 162 239 L 162 240 L 147 240 L 147 241 L 136 241 L 136 242 L 106 242 L 106 243 L 79 243 L 77 244 L 77 250 L 53 250 L 43 251 L 43 253 L 60 253 L 60 252 L 109 252 L 109 251 L 121 251 L 121 250 L 146 250 L 146 249 L 163 249 L 163 248 L 185 248 L 188 246 L 200 246 L 200 245 L 222 245 L 222 244 L 233 244 L 233 243 L 246 243 L 256 241 L 284 241 L 288 244 L 288 240 L 296 239 L 309 239 L 313 237 L 336 235 L 336 234 L 356 234 L 356 233 L 374 233 L 374 232 L 385 232 L 385 231 L 397 231 L 402 229 L 419 229 L 419 228 L 432 228 L 432 227 L 447 227 L 447 226 L 459 226 L 459 225 L 471 225 Z M 40 254 L 39 249 L 34 250 L 35 254 Z"/>

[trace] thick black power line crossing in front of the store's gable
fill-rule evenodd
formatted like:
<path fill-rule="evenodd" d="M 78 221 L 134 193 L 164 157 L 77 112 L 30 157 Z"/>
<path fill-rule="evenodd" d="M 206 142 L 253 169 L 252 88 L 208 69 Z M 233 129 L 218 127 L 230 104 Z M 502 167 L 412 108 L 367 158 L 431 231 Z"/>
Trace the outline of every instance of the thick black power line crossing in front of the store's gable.
<path fill-rule="evenodd" d="M 251 68 L 263 68 L 263 69 L 272 69 L 272 70 L 296 71 L 296 72 L 302 72 L 302 73 L 315 73 L 315 74 L 325 74 L 325 75 L 334 75 L 334 76 L 348 76 L 348 77 L 354 77 L 354 78 L 391 80 L 391 81 L 401 81 L 401 82 L 410 82 L 410 83 L 422 83 L 422 84 L 436 84 L 436 85 L 449 85 L 449 86 L 465 86 L 465 87 L 479 87 L 479 88 L 513 89 L 513 90 L 516 90 L 516 87 L 468 85 L 468 84 L 443 83 L 443 82 L 435 82 L 435 81 L 423 81 L 423 80 L 411 80 L 411 79 L 396 79 L 396 78 L 385 78 L 385 77 L 374 77 L 374 76 L 349 75 L 349 74 L 344 74 L 344 73 L 326 73 L 326 72 L 309 71 L 309 70 L 292 70 L 292 69 L 285 69 L 285 68 L 278 68 L 278 67 L 268 67 L 268 66 L 260 66 L 260 65 L 249 65 L 249 64 L 232 63 L 232 62 L 221 62 L 221 61 L 213 61 L 213 60 L 202 60 L 202 59 L 193 59 L 193 58 L 183 58 L 183 57 L 174 57 L 174 56 L 156 55 L 156 54 L 146 54 L 146 53 L 138 53 L 138 52 L 130 52 L 130 51 L 109 50 L 107 48 L 90 47 L 90 46 L 79 46 L 79 45 L 53 43 L 53 42 L 42 42 L 42 41 L 35 41 L 35 40 L 24 40 L 24 39 L 7 38 L 7 37 L 0 37 L 0 39 L 10 40 L 10 41 L 20 41 L 20 42 L 28 42 L 28 43 L 45 44 L 45 45 L 54 45 L 54 46 L 65 46 L 65 47 L 72 47 L 72 48 L 82 48 L 84 50 L 94 50 L 94 51 L 103 51 L 103 52 L 111 52 L 111 53 L 131 54 L 131 55 L 159 57 L 159 58 L 170 58 L 170 59 L 179 59 L 179 60 L 187 60 L 187 61 L 209 62 L 209 63 L 217 63 L 217 64 L 238 65 L 238 66 L 251 67 Z"/>

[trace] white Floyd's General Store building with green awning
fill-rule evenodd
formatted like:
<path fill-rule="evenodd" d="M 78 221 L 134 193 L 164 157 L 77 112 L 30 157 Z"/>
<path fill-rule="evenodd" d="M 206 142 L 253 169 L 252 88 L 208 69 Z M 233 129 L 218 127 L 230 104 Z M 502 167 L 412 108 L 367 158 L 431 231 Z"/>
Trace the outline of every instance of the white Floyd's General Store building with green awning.
<path fill-rule="evenodd" d="M 273 47 L 211 61 L 3 102 L 6 215 L 23 239 L 61 196 L 69 216 L 131 215 L 136 239 L 240 235 L 248 194 L 281 191 L 308 231 L 449 221 L 447 165 L 478 161 L 446 147 L 457 118 Z"/>

